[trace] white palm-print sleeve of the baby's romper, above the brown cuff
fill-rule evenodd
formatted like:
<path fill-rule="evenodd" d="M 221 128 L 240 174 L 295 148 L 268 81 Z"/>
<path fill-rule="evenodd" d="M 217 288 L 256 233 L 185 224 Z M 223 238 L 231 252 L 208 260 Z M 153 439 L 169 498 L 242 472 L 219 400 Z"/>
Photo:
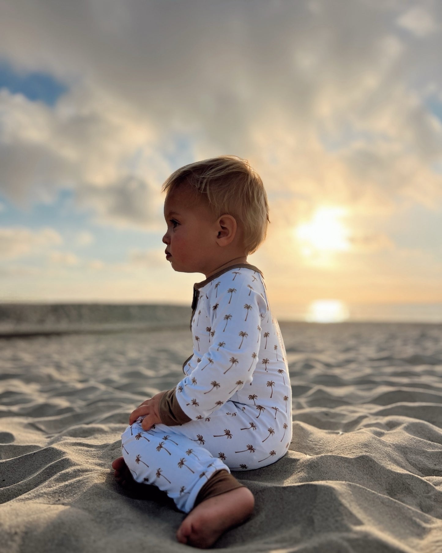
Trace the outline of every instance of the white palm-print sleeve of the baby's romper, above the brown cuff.
<path fill-rule="evenodd" d="M 267 304 L 251 286 L 249 273 L 227 273 L 218 286 L 204 287 L 210 345 L 175 394 L 182 412 L 191 419 L 212 414 L 252 379 Z"/>

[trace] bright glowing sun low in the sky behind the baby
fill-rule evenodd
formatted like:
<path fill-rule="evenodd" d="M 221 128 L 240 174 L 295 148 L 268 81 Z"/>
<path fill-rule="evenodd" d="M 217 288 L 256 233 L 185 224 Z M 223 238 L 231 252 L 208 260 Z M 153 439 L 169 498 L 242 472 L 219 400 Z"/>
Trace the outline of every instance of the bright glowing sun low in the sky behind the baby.
<path fill-rule="evenodd" d="M 341 222 L 346 214 L 343 207 L 319 207 L 311 221 L 294 229 L 302 253 L 308 256 L 350 249 L 349 231 Z"/>

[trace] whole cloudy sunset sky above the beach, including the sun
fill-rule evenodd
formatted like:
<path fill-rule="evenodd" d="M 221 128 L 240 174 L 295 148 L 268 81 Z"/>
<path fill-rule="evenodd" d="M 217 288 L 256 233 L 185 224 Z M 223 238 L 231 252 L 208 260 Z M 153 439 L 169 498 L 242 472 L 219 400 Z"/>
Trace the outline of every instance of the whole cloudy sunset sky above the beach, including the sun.
<path fill-rule="evenodd" d="M 442 3 L 0 9 L 1 302 L 190 304 L 161 184 L 234 154 L 269 196 L 249 262 L 276 316 L 442 321 Z"/>

